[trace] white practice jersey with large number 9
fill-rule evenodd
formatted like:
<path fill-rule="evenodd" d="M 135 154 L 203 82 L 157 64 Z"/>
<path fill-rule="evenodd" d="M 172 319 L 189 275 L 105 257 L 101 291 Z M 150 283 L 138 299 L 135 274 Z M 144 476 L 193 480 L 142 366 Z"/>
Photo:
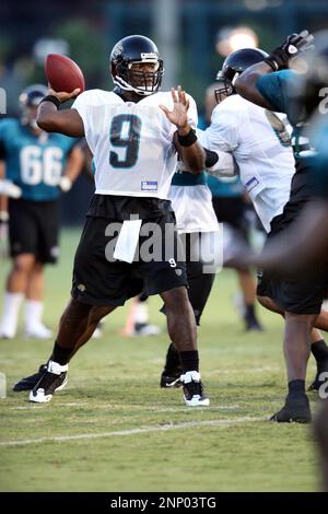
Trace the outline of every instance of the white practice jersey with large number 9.
<path fill-rule="evenodd" d="M 197 126 L 197 107 L 190 101 L 188 118 Z M 167 199 L 177 163 L 173 144 L 176 126 L 159 107 L 173 109 L 169 92 L 124 102 L 116 93 L 91 90 L 72 105 L 80 114 L 95 163 L 95 192 Z"/>

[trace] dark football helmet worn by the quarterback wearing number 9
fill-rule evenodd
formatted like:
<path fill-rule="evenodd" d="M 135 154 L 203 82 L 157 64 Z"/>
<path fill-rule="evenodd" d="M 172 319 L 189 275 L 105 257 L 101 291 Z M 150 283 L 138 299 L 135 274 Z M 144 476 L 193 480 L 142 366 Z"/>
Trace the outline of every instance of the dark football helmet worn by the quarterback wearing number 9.
<path fill-rule="evenodd" d="M 155 65 L 154 71 L 132 69 L 133 63 L 144 62 Z M 134 35 L 116 43 L 110 54 L 110 71 L 114 83 L 120 89 L 148 96 L 160 90 L 164 66 L 156 45 L 148 37 Z"/>

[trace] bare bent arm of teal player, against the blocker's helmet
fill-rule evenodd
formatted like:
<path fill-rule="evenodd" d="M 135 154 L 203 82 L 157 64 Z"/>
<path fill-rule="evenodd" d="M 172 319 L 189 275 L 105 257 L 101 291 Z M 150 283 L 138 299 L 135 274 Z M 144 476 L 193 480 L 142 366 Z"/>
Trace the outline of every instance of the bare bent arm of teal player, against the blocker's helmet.
<path fill-rule="evenodd" d="M 234 82 L 234 87 L 241 96 L 249 102 L 263 108 L 272 108 L 256 86 L 258 79 L 268 73 L 272 73 L 272 68 L 265 61 L 258 62 L 243 71 Z"/>

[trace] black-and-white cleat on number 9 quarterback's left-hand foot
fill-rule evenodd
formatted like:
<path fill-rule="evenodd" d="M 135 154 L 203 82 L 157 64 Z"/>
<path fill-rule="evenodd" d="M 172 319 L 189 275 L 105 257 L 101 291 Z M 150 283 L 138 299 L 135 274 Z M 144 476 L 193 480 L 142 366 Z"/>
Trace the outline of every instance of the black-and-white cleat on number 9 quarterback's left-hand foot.
<path fill-rule="evenodd" d="M 38 383 L 30 393 L 30 401 L 46 404 L 55 392 L 61 390 L 67 384 L 68 364 L 60 365 L 49 361 Z"/>

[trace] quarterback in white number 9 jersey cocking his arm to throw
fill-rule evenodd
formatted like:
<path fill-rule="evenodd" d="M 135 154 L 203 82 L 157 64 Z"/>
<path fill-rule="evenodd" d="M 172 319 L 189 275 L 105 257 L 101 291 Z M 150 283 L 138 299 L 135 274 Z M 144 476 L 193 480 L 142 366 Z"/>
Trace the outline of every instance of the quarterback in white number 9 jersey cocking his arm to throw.
<path fill-rule="evenodd" d="M 163 60 L 144 36 L 128 36 L 114 46 L 110 71 L 113 91 L 85 91 L 71 109 L 62 110 L 59 105 L 79 90 L 50 91 L 38 108 L 37 122 L 44 130 L 85 136 L 95 162 L 96 191 L 75 254 L 72 297 L 30 400 L 49 401 L 65 386 L 72 354 L 90 339 L 99 319 L 145 289 L 164 301 L 168 332 L 183 364 L 186 405 L 208 406 L 185 264 L 167 200 L 177 151 L 194 173 L 204 167 L 204 152 L 192 129 L 196 104 L 180 87 L 160 92 Z M 162 250 L 163 258 L 143 255 L 150 226 L 153 247 Z M 168 244 L 169 238 L 174 244 Z"/>

